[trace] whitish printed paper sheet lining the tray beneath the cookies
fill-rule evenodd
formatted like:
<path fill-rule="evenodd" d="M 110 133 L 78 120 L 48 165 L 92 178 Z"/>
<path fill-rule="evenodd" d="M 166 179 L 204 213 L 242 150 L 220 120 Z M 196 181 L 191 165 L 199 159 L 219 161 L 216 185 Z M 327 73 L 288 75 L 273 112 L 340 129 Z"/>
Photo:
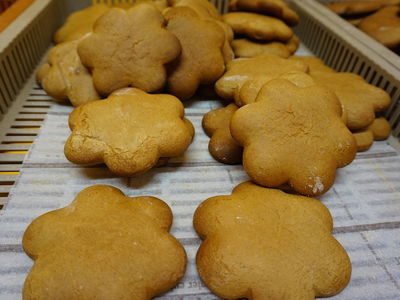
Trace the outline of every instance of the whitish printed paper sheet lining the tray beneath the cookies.
<path fill-rule="evenodd" d="M 32 97 L 49 99 L 38 87 Z M 82 168 L 69 163 L 63 146 L 72 108 L 53 104 L 9 203 L 0 211 L 0 300 L 21 299 L 32 266 L 21 248 L 22 234 L 30 222 L 68 205 L 79 191 L 94 184 L 116 186 L 128 196 L 155 196 L 172 208 L 171 233 L 184 245 L 188 266 L 182 282 L 160 299 L 218 299 L 196 271 L 195 255 L 201 241 L 193 230 L 192 216 L 203 200 L 230 194 L 249 179 L 241 166 L 220 164 L 208 153 L 209 138 L 201 119 L 224 104 L 217 100 L 186 102 L 186 116 L 196 129 L 189 150 L 165 167 L 132 178 L 118 178 L 103 166 Z M 320 200 L 331 211 L 335 237 L 353 264 L 349 286 L 331 299 L 400 299 L 400 155 L 386 142 L 375 142 L 351 165 L 338 170 L 334 186 Z"/>

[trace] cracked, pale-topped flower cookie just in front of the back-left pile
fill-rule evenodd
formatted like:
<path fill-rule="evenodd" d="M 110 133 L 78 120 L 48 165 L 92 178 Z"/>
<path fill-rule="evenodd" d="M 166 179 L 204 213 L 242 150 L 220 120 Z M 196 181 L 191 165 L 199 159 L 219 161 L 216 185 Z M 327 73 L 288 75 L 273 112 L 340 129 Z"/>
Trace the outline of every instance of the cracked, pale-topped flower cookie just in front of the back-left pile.
<path fill-rule="evenodd" d="M 117 90 L 71 113 L 64 153 L 76 164 L 104 162 L 117 175 L 143 173 L 160 157 L 179 156 L 188 148 L 194 129 L 183 115 L 174 96 Z"/>

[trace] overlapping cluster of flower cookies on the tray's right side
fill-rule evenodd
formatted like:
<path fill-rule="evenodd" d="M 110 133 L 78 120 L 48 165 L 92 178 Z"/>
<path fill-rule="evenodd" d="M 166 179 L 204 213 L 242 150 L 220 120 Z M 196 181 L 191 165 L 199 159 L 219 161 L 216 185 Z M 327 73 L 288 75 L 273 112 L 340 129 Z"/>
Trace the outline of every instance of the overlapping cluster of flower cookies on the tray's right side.
<path fill-rule="evenodd" d="M 267 187 L 289 184 L 298 193 L 321 195 L 332 186 L 336 168 L 353 160 L 356 148 L 366 150 L 390 132 L 388 122 L 378 118 L 390 104 L 385 91 L 313 57 L 235 59 L 215 90 L 235 103 L 204 116 L 210 153 L 222 163 L 243 162 L 249 176 Z M 332 105 L 333 119 L 332 109 L 326 110 Z"/>

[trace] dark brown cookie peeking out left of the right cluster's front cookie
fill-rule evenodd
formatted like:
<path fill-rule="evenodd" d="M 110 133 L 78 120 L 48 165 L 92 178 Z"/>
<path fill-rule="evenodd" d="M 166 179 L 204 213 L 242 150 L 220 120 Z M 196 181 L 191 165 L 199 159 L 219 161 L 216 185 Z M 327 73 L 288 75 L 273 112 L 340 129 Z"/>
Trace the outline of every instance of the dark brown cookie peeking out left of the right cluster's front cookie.
<path fill-rule="evenodd" d="M 234 103 L 226 107 L 214 109 L 203 117 L 203 128 L 211 137 L 208 151 L 219 162 L 224 164 L 240 164 L 243 149 L 232 138 L 229 124 L 238 106 Z"/>

